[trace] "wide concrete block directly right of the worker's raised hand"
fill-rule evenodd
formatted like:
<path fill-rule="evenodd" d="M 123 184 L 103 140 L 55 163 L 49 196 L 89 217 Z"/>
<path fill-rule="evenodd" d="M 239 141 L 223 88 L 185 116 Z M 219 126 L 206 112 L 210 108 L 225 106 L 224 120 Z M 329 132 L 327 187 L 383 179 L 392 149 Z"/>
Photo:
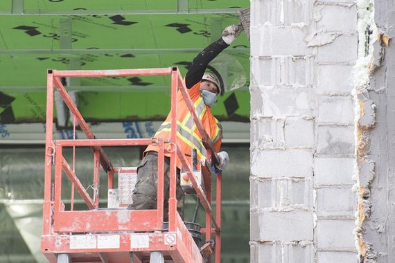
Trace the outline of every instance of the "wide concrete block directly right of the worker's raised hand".
<path fill-rule="evenodd" d="M 307 29 L 293 27 L 260 26 L 251 28 L 251 55 L 312 55 L 305 38 Z"/>

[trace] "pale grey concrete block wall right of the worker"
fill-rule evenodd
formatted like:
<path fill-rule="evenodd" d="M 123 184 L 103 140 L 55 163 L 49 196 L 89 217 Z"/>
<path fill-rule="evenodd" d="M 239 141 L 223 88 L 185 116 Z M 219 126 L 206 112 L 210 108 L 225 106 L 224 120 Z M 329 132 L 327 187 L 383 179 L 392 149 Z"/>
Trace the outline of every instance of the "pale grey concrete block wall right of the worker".
<path fill-rule="evenodd" d="M 351 0 L 251 1 L 251 262 L 358 262 Z"/>

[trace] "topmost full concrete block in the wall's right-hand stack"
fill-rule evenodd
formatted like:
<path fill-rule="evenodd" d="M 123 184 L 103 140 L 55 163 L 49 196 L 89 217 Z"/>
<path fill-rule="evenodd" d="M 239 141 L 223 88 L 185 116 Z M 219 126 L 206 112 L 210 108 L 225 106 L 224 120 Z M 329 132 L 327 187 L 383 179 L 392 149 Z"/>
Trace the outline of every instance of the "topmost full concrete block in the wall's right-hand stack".
<path fill-rule="evenodd" d="M 356 33 L 357 31 L 357 6 L 316 5 L 315 17 L 317 28 L 327 32 Z"/>

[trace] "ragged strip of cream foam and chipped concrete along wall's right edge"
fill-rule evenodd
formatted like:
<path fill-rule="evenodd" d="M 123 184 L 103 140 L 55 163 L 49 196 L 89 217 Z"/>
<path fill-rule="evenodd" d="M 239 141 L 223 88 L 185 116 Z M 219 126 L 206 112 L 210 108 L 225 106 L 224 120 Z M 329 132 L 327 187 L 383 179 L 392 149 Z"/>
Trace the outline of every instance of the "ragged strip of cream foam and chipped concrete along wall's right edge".
<path fill-rule="evenodd" d="M 353 191 L 358 201 L 356 211 L 356 248 L 358 262 L 376 262 L 377 255 L 371 244 L 364 239 L 366 220 L 371 213 L 371 182 L 374 180 L 375 163 L 369 159 L 370 131 L 376 125 L 376 105 L 367 91 L 371 74 L 379 64 L 374 43 L 380 36 L 374 21 L 374 0 L 357 0 L 358 12 L 358 59 L 353 69 L 353 96 L 355 100 L 356 167 Z M 378 59 L 380 60 L 380 59 Z"/>

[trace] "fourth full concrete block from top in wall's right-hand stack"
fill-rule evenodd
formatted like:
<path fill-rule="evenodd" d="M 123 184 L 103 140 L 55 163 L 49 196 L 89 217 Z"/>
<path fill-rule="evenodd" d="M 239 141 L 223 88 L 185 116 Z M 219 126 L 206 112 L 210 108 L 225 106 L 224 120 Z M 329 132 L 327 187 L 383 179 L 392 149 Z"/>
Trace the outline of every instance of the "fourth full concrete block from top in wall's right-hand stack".
<path fill-rule="evenodd" d="M 319 96 L 318 123 L 354 122 L 354 99 L 350 96 Z"/>

